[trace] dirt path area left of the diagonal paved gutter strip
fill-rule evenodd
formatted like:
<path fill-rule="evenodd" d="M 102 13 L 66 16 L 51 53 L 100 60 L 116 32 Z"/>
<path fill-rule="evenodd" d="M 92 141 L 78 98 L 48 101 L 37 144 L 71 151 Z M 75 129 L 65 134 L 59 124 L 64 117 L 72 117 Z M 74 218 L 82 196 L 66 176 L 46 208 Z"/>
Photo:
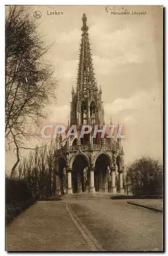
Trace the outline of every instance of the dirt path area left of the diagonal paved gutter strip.
<path fill-rule="evenodd" d="M 8 225 L 6 250 L 87 251 L 91 248 L 63 202 L 41 201 Z"/>

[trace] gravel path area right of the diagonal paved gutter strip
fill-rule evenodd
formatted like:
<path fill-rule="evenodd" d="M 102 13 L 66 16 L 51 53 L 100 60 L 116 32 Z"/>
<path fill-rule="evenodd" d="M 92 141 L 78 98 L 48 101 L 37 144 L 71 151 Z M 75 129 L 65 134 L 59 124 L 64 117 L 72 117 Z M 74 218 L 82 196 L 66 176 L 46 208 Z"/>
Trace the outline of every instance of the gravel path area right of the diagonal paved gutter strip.
<path fill-rule="evenodd" d="M 70 207 L 105 250 L 162 250 L 162 214 L 127 200 L 87 200 Z"/>

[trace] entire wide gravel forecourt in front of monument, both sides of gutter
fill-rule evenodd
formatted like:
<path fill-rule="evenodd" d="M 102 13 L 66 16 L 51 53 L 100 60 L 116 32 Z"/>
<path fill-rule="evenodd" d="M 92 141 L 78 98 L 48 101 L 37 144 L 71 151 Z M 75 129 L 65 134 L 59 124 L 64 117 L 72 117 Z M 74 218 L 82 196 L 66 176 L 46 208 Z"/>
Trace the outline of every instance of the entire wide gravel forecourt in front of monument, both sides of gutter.
<path fill-rule="evenodd" d="M 162 214 L 127 200 L 40 201 L 6 229 L 8 251 L 161 251 Z"/>

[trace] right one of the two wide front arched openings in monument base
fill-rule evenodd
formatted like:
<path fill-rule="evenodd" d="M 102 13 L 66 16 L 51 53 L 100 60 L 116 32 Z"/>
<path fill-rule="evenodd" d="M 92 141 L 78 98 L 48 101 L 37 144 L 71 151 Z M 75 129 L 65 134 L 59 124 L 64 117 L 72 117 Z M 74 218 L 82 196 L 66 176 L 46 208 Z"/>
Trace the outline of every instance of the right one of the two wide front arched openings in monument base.
<path fill-rule="evenodd" d="M 105 154 L 101 154 L 95 161 L 94 186 L 95 191 L 108 192 L 110 187 L 109 166 L 111 160 Z"/>

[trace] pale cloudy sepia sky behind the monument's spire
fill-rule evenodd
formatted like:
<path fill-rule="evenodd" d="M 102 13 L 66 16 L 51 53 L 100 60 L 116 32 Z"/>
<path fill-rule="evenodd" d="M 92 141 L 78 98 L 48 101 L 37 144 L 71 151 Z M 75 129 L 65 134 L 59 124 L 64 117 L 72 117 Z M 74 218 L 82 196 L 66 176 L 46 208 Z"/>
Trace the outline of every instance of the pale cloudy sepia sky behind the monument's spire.
<path fill-rule="evenodd" d="M 66 124 L 71 87 L 76 87 L 82 15 L 86 13 L 92 62 L 102 87 L 105 122 L 125 127 L 125 164 L 142 155 L 162 158 L 162 7 L 125 6 L 130 15 L 110 15 L 105 6 L 34 6 L 46 44 L 45 59 L 59 80 L 57 102 L 46 106 L 47 124 Z M 112 9 L 109 6 L 108 9 Z M 122 6 L 115 6 L 116 12 Z M 63 15 L 47 15 L 60 11 Z M 146 15 L 133 15 L 146 11 Z M 10 168 L 13 160 L 10 157 Z M 8 156 L 7 156 L 8 158 Z"/>

